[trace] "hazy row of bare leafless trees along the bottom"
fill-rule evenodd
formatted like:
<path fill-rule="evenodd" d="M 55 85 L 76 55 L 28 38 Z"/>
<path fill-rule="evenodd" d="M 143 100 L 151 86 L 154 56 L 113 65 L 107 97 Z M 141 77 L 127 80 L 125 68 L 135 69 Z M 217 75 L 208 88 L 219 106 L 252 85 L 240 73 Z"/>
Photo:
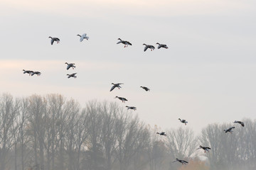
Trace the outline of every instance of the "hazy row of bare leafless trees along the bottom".
<path fill-rule="evenodd" d="M 85 108 L 58 94 L 0 96 L 2 170 L 256 169 L 256 122 L 188 127 L 156 135 L 117 103 L 90 101 Z M 209 153 L 197 150 L 211 147 Z M 176 158 L 189 162 L 172 163 Z"/>

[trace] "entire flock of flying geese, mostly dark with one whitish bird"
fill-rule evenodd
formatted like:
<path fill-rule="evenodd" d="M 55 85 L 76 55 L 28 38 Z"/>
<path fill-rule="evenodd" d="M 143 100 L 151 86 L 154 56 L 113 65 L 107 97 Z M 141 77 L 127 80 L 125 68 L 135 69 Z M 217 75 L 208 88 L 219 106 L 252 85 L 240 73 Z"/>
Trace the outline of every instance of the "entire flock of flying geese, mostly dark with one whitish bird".
<path fill-rule="evenodd" d="M 84 33 L 84 34 L 82 34 L 82 35 L 79 35 L 79 34 L 78 34 L 78 36 L 80 37 L 80 42 L 82 42 L 84 39 L 89 40 L 89 37 L 87 36 L 86 33 Z M 50 38 L 50 44 L 51 44 L 51 45 L 53 45 L 54 42 L 56 42 L 57 44 L 60 43 L 60 39 L 59 39 L 59 38 L 52 38 L 52 37 L 49 37 L 49 38 Z M 121 40 L 121 38 L 118 38 L 117 40 L 119 40 L 119 42 L 117 42 L 117 44 L 122 43 L 122 44 L 124 45 L 124 47 L 128 47 L 128 45 L 132 45 L 131 42 L 126 41 L 126 40 Z M 148 49 L 150 49 L 151 51 L 155 49 L 154 45 L 146 45 L 146 44 L 143 44 L 143 45 L 145 45 L 145 47 L 144 47 L 144 52 L 146 52 L 146 50 L 148 50 Z M 159 42 L 157 42 L 156 45 L 158 45 L 158 47 L 157 47 L 158 49 L 160 49 L 160 48 L 168 49 L 167 45 L 160 44 Z M 70 69 L 70 68 L 75 69 L 75 63 L 68 63 L 68 62 L 65 62 L 65 64 L 67 64 L 67 70 Z M 36 74 L 36 75 L 40 76 L 40 75 L 41 75 L 41 72 L 33 72 L 33 71 L 31 71 L 31 70 L 25 70 L 25 69 L 23 69 L 23 74 L 28 74 L 29 76 L 33 76 L 34 74 Z M 69 79 L 70 77 L 77 78 L 77 77 L 75 76 L 75 74 L 77 74 L 77 73 L 67 74 L 68 79 Z M 120 86 L 121 84 L 123 84 L 123 83 L 117 83 L 117 84 L 112 83 L 113 86 L 111 87 L 110 91 L 113 91 L 115 88 L 117 88 L 117 89 L 122 88 L 122 87 Z M 145 91 L 150 91 L 150 89 L 149 89 L 148 87 L 146 87 L 146 86 L 140 86 L 140 87 L 141 87 L 142 89 L 144 89 Z M 125 101 L 128 101 L 128 100 L 127 100 L 126 98 L 124 98 L 124 97 L 116 96 L 115 98 L 118 98 L 118 99 L 119 99 L 120 101 L 122 101 L 123 103 L 125 103 Z M 134 110 L 134 111 L 137 110 L 137 108 L 136 108 L 135 106 L 125 106 L 125 107 L 127 107 L 127 110 L 129 110 L 129 109 Z M 181 122 L 181 123 L 184 123 L 185 125 L 188 123 L 188 121 L 186 121 L 185 119 L 178 118 L 178 120 L 180 120 L 180 122 Z M 238 123 L 238 124 L 240 124 L 242 127 L 245 126 L 245 124 L 244 124 L 242 121 L 237 121 L 237 120 L 235 120 L 233 123 Z M 228 128 L 227 130 L 224 130 L 224 132 L 225 132 L 225 133 L 227 133 L 227 132 L 232 133 L 234 128 L 235 128 L 234 126 L 233 126 L 233 127 L 230 127 L 230 128 Z M 165 137 L 167 136 L 167 135 L 166 135 L 166 132 L 156 132 L 156 134 L 157 134 L 157 135 L 161 135 L 161 136 L 165 136 Z M 210 147 L 203 147 L 203 146 L 200 145 L 198 149 L 203 149 L 204 152 L 206 153 L 206 151 L 209 152 L 209 149 L 211 149 L 211 148 L 210 148 Z M 176 160 L 175 160 L 174 162 L 180 162 L 181 164 L 188 164 L 188 162 L 186 162 L 186 161 L 184 161 L 184 160 L 182 160 L 182 159 L 178 159 L 178 158 L 176 158 Z"/>

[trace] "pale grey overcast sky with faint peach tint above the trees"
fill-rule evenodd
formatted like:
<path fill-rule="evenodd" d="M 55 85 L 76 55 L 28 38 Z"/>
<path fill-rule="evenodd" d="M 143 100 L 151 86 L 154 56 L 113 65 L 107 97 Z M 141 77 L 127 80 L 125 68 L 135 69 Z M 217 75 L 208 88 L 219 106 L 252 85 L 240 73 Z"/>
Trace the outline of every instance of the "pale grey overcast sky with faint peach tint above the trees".
<path fill-rule="evenodd" d="M 178 118 L 195 132 L 255 119 L 255 9 L 252 0 L 1 0 L 0 92 L 136 106 L 131 114 L 162 130 L 184 126 Z M 82 33 L 90 39 L 80 42 Z M 169 49 L 143 51 L 156 42 Z M 124 84 L 110 92 L 112 83 Z"/>

